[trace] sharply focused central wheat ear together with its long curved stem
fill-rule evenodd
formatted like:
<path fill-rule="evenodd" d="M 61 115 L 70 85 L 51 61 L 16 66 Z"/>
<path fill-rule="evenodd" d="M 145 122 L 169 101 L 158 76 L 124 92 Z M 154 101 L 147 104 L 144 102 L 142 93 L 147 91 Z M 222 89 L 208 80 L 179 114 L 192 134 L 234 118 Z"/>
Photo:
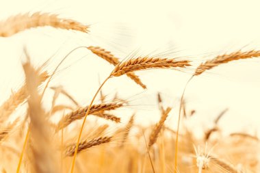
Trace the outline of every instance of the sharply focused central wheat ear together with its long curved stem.
<path fill-rule="evenodd" d="M 100 85 L 99 89 L 94 94 L 94 97 L 92 98 L 92 101 L 90 102 L 90 105 L 88 106 L 88 110 L 86 111 L 86 114 L 84 116 L 81 129 L 79 131 L 79 137 L 77 138 L 77 144 L 75 147 L 75 152 L 73 156 L 73 162 L 71 166 L 70 172 L 73 173 L 74 167 L 75 167 L 75 161 L 77 157 L 77 150 L 79 148 L 79 142 L 81 138 L 81 134 L 83 131 L 83 127 L 86 122 L 86 118 L 88 114 L 90 113 L 90 107 L 92 106 L 94 99 L 96 98 L 97 94 L 100 92 L 103 85 L 110 79 L 111 77 L 119 77 L 121 75 L 125 75 L 127 72 L 134 72 L 137 70 L 148 70 L 151 68 L 185 68 L 186 66 L 190 66 L 190 61 L 182 60 L 177 61 L 176 59 L 166 59 L 166 58 L 159 58 L 159 57 L 138 57 L 137 59 L 129 59 L 126 62 L 122 62 L 120 64 L 117 64 L 114 68 L 114 70 L 111 72 L 111 74 L 103 81 L 103 83 Z"/>

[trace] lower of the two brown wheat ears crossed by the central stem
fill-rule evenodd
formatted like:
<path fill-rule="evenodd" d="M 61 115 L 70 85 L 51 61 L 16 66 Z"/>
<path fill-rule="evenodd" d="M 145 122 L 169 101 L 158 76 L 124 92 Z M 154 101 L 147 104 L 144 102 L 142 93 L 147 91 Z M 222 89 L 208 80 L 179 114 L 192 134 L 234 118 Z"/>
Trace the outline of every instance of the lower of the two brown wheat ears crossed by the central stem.
<path fill-rule="evenodd" d="M 90 140 L 86 139 L 83 142 L 79 143 L 79 147 L 78 147 L 77 152 L 78 153 L 83 152 L 83 151 L 85 151 L 88 148 L 91 148 L 93 146 L 99 146 L 101 144 L 111 142 L 111 139 L 112 139 L 112 137 L 96 137 L 96 138 L 90 139 Z M 65 155 L 72 157 L 74 155 L 74 152 L 75 152 L 75 146 L 76 146 L 76 144 L 72 144 L 72 145 L 68 146 L 67 149 L 66 149 Z"/>

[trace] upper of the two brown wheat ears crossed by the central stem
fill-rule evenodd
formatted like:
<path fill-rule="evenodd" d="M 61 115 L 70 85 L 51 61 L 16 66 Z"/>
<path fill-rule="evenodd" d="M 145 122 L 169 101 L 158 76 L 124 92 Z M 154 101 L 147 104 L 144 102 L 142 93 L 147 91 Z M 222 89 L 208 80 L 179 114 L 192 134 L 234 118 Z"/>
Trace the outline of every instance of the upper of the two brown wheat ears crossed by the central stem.
<path fill-rule="evenodd" d="M 105 103 L 105 104 L 99 104 L 99 105 L 92 105 L 90 107 L 90 113 L 89 114 L 97 114 L 101 113 L 103 111 L 109 111 L 113 109 L 118 109 L 119 107 L 122 107 L 122 103 Z M 67 127 L 68 124 L 75 120 L 79 120 L 81 118 L 84 118 L 86 111 L 88 110 L 87 107 L 80 107 L 75 111 L 70 112 L 66 116 L 60 120 L 60 122 L 57 124 L 56 131 L 60 131 L 60 129 L 63 129 L 64 127 Z"/>

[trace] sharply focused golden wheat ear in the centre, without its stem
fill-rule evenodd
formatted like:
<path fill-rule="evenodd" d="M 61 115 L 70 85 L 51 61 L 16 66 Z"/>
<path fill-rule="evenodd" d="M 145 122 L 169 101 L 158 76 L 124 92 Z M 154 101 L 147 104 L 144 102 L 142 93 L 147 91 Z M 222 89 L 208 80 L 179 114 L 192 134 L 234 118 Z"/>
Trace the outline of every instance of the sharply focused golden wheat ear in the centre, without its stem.
<path fill-rule="evenodd" d="M 127 72 L 147 70 L 151 68 L 185 68 L 186 66 L 190 66 L 190 61 L 177 61 L 176 59 L 159 57 L 138 57 L 116 65 L 111 76 L 119 77 L 125 75 Z"/>

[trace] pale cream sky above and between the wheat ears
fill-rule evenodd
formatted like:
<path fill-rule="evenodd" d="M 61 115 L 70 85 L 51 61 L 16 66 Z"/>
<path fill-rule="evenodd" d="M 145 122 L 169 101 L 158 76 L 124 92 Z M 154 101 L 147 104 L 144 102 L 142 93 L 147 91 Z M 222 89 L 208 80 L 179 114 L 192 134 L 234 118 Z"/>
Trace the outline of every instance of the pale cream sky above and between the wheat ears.
<path fill-rule="evenodd" d="M 55 55 L 47 66 L 58 62 L 77 46 L 102 46 L 117 57 L 132 51 L 140 54 L 172 52 L 168 57 L 186 57 L 198 65 L 204 59 L 238 49 L 260 49 L 260 1 L 5 1 L 0 19 L 23 12 L 51 12 L 90 24 L 90 34 L 51 29 L 30 29 L 11 38 L 0 38 L 0 103 L 23 83 L 21 63 L 26 46 L 34 65 Z M 175 52 L 175 53 L 173 53 Z M 68 67 L 69 68 L 66 68 Z M 101 81 L 113 69 L 90 51 L 79 49 L 63 64 L 51 86 L 64 85 L 82 105 L 89 103 Z M 179 98 L 194 68 L 137 72 L 148 90 L 143 91 L 127 77 L 114 78 L 104 87 L 113 96 L 118 90 L 131 106 L 123 114 L 138 109 L 138 122 L 157 122 L 157 92 L 165 105 L 173 106 L 166 124 L 176 128 Z M 260 127 L 260 59 L 224 64 L 195 77 L 187 87 L 187 109 L 196 109 L 190 127 L 207 129 L 220 112 L 229 108 L 220 126 L 226 133 L 254 134 Z M 46 100 L 53 92 L 47 91 Z M 50 101 L 49 101 L 50 103 Z M 139 104 L 139 105 L 138 105 Z M 48 105 L 46 105 L 48 106 Z M 127 118 L 125 118 L 127 121 Z"/>

